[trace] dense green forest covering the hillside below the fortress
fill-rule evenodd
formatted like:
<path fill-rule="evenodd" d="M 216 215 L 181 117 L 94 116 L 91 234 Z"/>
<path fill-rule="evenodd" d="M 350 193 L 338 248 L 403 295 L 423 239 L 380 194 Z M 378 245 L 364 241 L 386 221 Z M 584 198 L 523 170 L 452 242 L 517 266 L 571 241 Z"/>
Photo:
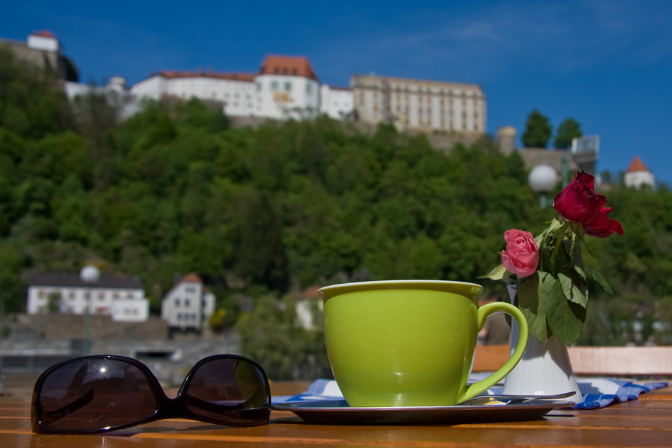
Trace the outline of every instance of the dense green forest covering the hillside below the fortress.
<path fill-rule="evenodd" d="M 197 272 L 224 310 L 220 327 L 262 325 L 270 318 L 255 303 L 284 304 L 311 285 L 476 282 L 499 263 L 504 231 L 536 234 L 555 213 L 540 209 L 527 174 L 487 135 L 446 155 L 423 135 L 363 134 L 326 116 L 230 127 L 198 100 L 146 103 L 120 120 L 116 101 L 68 103 L 56 80 L 0 52 L 6 313 L 25 309 L 30 272 L 92 260 L 139 276 L 154 312 L 175 275 Z M 589 237 L 586 264 L 615 297 L 591 290 L 579 343 L 670 344 L 672 192 L 610 177 L 601 193 L 625 236 Z M 291 321 L 285 309 L 279 321 Z"/>

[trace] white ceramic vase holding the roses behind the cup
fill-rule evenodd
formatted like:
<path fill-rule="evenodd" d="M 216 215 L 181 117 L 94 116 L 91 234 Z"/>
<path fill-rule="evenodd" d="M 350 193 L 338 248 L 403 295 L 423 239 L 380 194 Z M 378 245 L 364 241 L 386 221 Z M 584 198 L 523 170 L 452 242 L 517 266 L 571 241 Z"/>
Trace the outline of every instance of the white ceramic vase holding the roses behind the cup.
<path fill-rule="evenodd" d="M 515 288 L 509 286 L 509 296 L 515 297 Z M 513 300 L 511 300 L 513 301 Z M 519 328 L 516 321 L 511 326 L 511 353 L 519 340 Z M 581 403 L 583 396 L 579 391 L 577 377 L 569 363 L 567 345 L 555 335 L 542 344 L 533 335 L 528 337 L 527 348 L 518 365 L 504 379 L 506 395 L 555 395 L 574 391 L 569 397 L 575 403 Z"/>

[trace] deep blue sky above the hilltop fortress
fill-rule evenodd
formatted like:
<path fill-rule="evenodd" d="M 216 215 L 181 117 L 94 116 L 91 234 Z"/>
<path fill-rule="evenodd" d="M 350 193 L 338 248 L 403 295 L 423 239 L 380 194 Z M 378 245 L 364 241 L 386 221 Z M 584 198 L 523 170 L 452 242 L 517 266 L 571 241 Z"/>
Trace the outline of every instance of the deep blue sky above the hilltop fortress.
<path fill-rule="evenodd" d="M 638 155 L 672 184 L 670 1 L 27 1 L 4 6 L 0 37 L 49 29 L 81 80 L 130 84 L 161 69 L 256 71 L 303 55 L 320 81 L 371 71 L 480 84 L 487 130 L 519 135 L 537 108 L 601 139 L 598 171 Z"/>

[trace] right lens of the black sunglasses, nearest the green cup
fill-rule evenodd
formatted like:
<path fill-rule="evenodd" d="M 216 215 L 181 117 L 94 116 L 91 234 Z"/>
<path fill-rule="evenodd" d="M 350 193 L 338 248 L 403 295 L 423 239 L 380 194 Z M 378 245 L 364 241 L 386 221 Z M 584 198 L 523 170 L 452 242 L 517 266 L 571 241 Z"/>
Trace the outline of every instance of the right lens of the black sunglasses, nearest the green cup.
<path fill-rule="evenodd" d="M 202 364 L 185 389 L 187 408 L 212 423 L 254 425 L 268 420 L 271 397 L 254 364 L 223 358 Z"/>

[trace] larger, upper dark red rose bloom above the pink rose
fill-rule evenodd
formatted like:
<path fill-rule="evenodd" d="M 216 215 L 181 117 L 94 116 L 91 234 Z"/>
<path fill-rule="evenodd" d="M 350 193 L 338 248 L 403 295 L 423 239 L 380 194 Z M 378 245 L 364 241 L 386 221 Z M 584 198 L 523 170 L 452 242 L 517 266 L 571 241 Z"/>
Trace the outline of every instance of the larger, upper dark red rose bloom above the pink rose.
<path fill-rule="evenodd" d="M 595 178 L 581 171 L 553 201 L 553 208 L 564 219 L 586 224 L 592 222 L 607 203 L 607 198 L 595 193 Z"/>

